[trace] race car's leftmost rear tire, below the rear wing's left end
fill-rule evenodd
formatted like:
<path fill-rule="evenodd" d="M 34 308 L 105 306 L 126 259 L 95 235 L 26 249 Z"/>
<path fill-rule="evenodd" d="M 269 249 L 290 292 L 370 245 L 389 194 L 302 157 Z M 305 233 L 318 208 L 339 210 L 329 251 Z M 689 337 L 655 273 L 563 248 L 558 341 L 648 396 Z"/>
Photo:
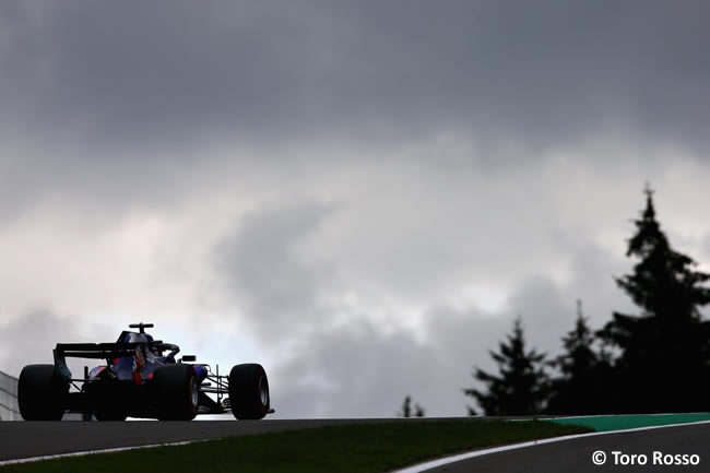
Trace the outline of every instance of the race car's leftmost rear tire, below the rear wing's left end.
<path fill-rule="evenodd" d="M 55 375 L 54 365 L 28 365 L 17 381 L 17 403 L 25 421 L 61 421 L 69 383 Z"/>

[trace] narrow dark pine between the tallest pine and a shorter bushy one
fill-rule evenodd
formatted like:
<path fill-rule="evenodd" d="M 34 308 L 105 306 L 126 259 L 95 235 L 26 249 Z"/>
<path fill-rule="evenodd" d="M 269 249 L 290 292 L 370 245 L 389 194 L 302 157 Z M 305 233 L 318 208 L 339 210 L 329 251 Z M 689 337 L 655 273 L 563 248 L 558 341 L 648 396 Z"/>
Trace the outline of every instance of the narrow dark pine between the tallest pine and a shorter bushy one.
<path fill-rule="evenodd" d="M 601 378 L 607 365 L 594 351 L 595 336 L 582 314 L 582 303 L 577 301 L 575 328 L 563 338 L 565 353 L 552 365 L 560 376 L 553 380 L 546 411 L 551 414 L 600 414 L 605 404 L 601 402 Z"/>

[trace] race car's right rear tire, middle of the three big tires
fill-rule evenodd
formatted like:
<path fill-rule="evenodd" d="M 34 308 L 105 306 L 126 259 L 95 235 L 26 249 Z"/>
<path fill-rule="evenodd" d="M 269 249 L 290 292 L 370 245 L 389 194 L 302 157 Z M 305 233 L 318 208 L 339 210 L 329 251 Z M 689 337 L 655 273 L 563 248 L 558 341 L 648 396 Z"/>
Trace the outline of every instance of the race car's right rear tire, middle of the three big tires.
<path fill-rule="evenodd" d="M 164 365 L 155 370 L 153 388 L 161 421 L 192 421 L 198 414 L 199 381 L 192 365 Z"/>

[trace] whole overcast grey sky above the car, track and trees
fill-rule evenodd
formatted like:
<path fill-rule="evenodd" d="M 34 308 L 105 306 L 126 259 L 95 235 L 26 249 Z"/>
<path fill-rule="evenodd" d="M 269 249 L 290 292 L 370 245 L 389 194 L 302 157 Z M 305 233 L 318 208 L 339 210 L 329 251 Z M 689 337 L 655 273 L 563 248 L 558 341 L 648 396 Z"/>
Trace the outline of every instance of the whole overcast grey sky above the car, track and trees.
<path fill-rule="evenodd" d="M 280 417 L 463 415 L 510 331 L 710 269 L 705 1 L 0 3 L 0 369 L 130 322 Z"/>

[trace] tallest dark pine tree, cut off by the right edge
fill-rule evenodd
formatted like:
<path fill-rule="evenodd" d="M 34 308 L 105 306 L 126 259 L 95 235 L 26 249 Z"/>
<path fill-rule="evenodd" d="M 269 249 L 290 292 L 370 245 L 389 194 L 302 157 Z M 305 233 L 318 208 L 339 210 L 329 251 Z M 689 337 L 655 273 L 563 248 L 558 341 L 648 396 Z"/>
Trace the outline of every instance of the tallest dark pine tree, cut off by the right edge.
<path fill-rule="evenodd" d="M 710 303 L 710 274 L 675 251 L 655 220 L 653 191 L 635 222 L 627 256 L 638 263 L 616 280 L 640 308 L 615 312 L 600 336 L 620 348 L 615 363 L 618 409 L 625 412 L 707 411 L 710 406 L 710 324 L 700 308 Z"/>

